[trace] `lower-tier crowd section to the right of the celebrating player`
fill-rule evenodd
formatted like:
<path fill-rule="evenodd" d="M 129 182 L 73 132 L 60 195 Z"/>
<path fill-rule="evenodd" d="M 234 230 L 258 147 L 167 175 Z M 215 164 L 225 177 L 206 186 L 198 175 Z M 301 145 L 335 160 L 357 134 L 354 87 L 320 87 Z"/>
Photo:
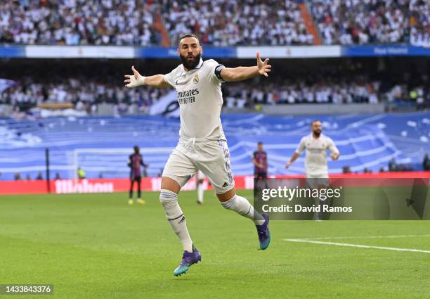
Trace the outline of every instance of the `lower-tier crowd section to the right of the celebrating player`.
<path fill-rule="evenodd" d="M 229 108 L 252 107 L 254 104 L 293 103 L 409 103 L 423 109 L 429 106 L 430 89 L 424 84 L 389 84 L 361 77 L 350 79 L 321 79 L 311 77 L 283 80 L 272 84 L 235 83 L 224 91 Z"/>

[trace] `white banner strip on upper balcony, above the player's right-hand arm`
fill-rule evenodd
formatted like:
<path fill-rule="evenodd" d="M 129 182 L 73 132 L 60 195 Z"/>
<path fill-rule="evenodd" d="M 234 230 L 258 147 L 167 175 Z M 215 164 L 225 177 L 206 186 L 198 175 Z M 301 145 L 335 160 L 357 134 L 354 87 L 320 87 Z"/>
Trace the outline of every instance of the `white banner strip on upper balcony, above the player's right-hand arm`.
<path fill-rule="evenodd" d="M 341 57 L 341 46 L 238 46 L 237 58 L 318 58 Z"/>

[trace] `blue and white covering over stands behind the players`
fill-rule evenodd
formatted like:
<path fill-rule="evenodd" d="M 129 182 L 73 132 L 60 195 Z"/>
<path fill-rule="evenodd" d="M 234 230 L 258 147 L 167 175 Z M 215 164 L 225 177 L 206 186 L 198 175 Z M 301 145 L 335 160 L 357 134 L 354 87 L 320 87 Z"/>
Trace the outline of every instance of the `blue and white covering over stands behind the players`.
<path fill-rule="evenodd" d="M 399 165 L 421 170 L 424 154 L 430 152 L 427 113 L 318 118 L 323 121 L 324 133 L 334 139 L 342 153 L 339 160 L 329 162 L 331 173 L 341 173 L 346 166 L 351 172 L 388 170 L 392 158 Z M 252 174 L 252 153 L 256 143 L 263 141 L 270 174 L 303 173 L 303 157 L 289 170 L 284 165 L 301 136 L 309 134 L 310 122 L 304 116 L 223 115 L 233 171 L 237 175 Z M 74 177 L 77 166 L 89 178 L 127 177 L 127 150 L 131 151 L 136 143 L 143 148 L 145 163 L 150 164 L 148 175 L 157 176 L 171 148 L 176 146 L 178 128 L 178 119 L 161 116 L 50 117 L 21 121 L 1 118 L 1 178 L 13 179 L 16 172 L 21 177 L 27 174 L 36 177 L 45 169 L 45 148 L 51 150 L 51 177 L 56 172 L 62 178 Z M 76 155 L 79 148 L 93 150 Z M 104 154 L 109 148 L 115 151 L 121 148 L 122 152 Z"/>

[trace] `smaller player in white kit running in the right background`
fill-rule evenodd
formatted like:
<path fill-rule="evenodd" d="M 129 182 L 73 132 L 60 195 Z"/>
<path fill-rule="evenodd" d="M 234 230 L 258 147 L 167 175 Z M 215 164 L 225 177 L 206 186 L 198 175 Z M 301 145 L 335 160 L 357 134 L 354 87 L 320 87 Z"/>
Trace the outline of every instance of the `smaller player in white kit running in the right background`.
<path fill-rule="evenodd" d="M 314 120 L 311 123 L 311 131 L 311 134 L 301 139 L 297 150 L 294 152 L 289 162 L 285 164 L 285 167 L 290 167 L 306 149 L 305 169 L 308 183 L 311 187 L 317 186 L 318 188 L 323 188 L 327 187 L 329 183 L 327 149 L 331 152 L 330 157 L 332 160 L 337 160 L 340 153 L 336 145 L 334 145 L 334 141 L 330 137 L 322 134 L 323 129 L 319 120 Z M 318 213 L 318 215 L 316 215 L 316 220 L 322 220 L 322 217 L 322 213 Z"/>

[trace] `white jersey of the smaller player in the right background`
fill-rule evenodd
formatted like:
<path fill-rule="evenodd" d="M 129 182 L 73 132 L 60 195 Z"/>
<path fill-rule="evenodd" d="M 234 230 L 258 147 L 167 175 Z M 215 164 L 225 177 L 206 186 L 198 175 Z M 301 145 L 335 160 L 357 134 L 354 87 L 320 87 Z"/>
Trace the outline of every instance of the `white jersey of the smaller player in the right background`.
<path fill-rule="evenodd" d="M 328 175 L 327 149 L 332 153 L 339 153 L 330 137 L 320 134 L 319 138 L 313 138 L 312 134 L 304 136 L 296 150 L 301 155 L 306 149 L 305 168 L 308 177 L 323 177 Z"/>

